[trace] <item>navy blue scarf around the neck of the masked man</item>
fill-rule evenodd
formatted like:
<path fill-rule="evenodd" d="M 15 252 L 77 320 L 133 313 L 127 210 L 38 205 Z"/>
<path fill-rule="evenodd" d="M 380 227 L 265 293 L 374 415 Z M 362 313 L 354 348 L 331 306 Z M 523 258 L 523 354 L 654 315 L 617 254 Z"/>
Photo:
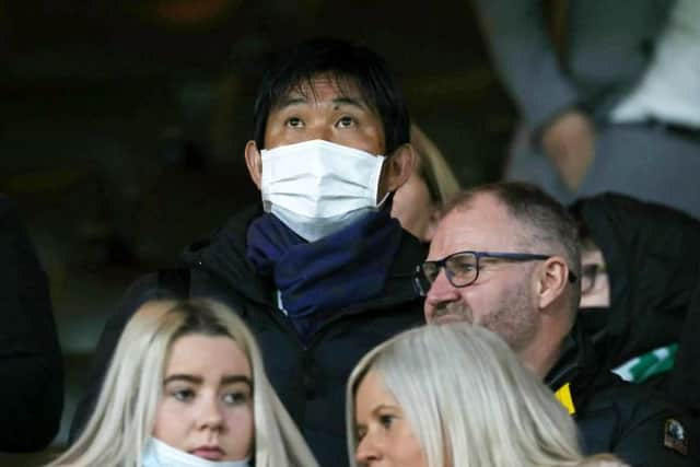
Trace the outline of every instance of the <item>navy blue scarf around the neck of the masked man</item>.
<path fill-rule="evenodd" d="M 247 258 L 259 275 L 272 277 L 304 341 L 335 311 L 384 289 L 401 242 L 401 227 L 389 211 L 385 206 L 312 243 L 270 213 L 250 223 Z"/>

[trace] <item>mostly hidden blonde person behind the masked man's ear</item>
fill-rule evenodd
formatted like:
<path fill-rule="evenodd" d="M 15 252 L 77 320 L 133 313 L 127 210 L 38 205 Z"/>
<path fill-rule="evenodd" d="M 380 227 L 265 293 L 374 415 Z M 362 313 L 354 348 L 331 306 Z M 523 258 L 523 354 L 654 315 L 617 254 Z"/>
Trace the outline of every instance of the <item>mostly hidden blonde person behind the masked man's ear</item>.
<path fill-rule="evenodd" d="M 430 242 L 443 202 L 459 191 L 459 183 L 435 143 L 411 125 L 413 170 L 394 195 L 392 217 L 423 242 Z"/>

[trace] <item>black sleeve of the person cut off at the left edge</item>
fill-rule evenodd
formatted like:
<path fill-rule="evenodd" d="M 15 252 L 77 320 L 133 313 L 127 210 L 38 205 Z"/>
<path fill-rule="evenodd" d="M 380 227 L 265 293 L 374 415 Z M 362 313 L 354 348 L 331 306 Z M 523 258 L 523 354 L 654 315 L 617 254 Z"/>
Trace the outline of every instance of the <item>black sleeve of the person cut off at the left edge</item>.
<path fill-rule="evenodd" d="M 0 196 L 0 451 L 45 447 L 58 431 L 63 369 L 46 272 Z"/>

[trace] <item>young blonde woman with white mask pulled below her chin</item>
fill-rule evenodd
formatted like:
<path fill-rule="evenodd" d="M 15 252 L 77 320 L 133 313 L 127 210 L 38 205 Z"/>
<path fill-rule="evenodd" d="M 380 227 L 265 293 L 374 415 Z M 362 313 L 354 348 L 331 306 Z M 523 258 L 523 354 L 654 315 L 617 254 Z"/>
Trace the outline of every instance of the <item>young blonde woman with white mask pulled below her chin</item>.
<path fill-rule="evenodd" d="M 233 311 L 148 302 L 128 323 L 90 421 L 50 466 L 306 467 L 311 452 Z"/>

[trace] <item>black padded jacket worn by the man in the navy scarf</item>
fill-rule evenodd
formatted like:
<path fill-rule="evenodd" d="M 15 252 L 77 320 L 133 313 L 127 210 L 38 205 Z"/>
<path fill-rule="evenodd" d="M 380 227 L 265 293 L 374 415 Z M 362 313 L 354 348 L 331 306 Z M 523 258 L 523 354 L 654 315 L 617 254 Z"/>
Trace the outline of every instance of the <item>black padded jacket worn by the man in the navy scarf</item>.
<path fill-rule="evenodd" d="M 404 232 L 382 294 L 338 310 L 304 345 L 278 310 L 273 284 L 257 276 L 246 260 L 247 226 L 259 214 L 257 208 L 235 215 L 209 244 L 195 245 L 184 254 L 183 264 L 190 269 L 189 296 L 215 299 L 240 313 L 258 340 L 270 382 L 319 464 L 347 465 L 346 382 L 370 349 L 423 323 L 421 291 L 413 278 L 425 247 Z M 92 410 L 127 320 L 144 301 L 165 293 L 158 290 L 158 275 L 142 278 L 105 325 L 90 386 L 73 420 L 73 436 Z"/>

